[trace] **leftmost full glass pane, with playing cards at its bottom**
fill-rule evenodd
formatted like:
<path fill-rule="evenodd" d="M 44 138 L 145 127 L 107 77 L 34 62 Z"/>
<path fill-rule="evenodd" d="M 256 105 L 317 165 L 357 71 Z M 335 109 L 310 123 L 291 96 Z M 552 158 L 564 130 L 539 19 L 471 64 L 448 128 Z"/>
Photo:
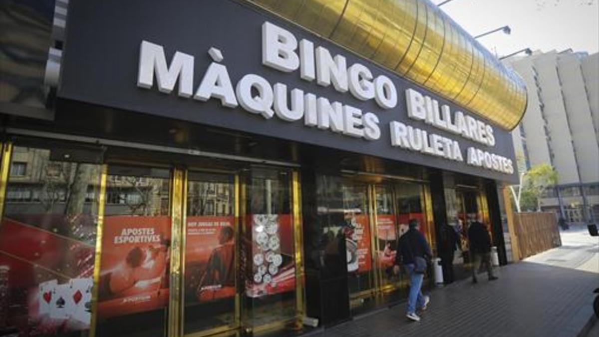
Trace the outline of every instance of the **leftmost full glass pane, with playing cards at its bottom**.
<path fill-rule="evenodd" d="M 15 147 L 0 225 L 0 330 L 87 335 L 100 166 Z"/>

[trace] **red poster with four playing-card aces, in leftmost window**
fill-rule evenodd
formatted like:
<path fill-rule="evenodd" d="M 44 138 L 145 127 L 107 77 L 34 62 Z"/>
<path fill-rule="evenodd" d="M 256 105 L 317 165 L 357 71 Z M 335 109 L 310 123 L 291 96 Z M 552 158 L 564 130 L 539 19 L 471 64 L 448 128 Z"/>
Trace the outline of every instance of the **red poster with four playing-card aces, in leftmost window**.
<path fill-rule="evenodd" d="M 3 219 L 2 331 L 14 336 L 58 336 L 89 329 L 94 230 L 93 219 L 84 215 Z"/>

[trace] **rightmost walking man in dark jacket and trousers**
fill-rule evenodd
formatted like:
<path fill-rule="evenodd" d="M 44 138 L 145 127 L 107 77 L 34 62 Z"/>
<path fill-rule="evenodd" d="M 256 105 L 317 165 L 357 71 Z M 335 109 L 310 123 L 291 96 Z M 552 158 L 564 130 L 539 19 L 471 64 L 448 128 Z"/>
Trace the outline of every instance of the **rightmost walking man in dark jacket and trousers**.
<path fill-rule="evenodd" d="M 480 222 L 480 216 L 470 224 L 468 228 L 468 239 L 470 240 L 470 257 L 472 258 L 472 282 L 478 282 L 476 272 L 481 263 L 485 263 L 489 281 L 497 279 L 493 275 L 491 266 L 491 238 L 485 225 Z"/>

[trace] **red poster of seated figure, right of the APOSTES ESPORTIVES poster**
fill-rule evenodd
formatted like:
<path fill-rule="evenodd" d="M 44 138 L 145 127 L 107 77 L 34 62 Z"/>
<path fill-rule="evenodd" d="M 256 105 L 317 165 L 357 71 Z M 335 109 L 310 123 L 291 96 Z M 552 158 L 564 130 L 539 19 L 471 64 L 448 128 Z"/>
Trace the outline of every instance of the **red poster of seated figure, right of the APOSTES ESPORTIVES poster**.
<path fill-rule="evenodd" d="M 186 303 L 235 296 L 234 216 L 188 216 Z"/>

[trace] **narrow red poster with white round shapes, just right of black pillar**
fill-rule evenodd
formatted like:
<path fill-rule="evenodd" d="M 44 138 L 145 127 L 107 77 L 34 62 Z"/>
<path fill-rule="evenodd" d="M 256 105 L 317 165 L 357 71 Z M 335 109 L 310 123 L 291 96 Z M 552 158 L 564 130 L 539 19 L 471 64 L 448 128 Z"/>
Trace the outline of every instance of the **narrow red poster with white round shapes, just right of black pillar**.
<path fill-rule="evenodd" d="M 368 215 L 354 215 L 344 228 L 347 249 L 347 272 L 368 272 L 370 255 L 370 223 Z"/>

